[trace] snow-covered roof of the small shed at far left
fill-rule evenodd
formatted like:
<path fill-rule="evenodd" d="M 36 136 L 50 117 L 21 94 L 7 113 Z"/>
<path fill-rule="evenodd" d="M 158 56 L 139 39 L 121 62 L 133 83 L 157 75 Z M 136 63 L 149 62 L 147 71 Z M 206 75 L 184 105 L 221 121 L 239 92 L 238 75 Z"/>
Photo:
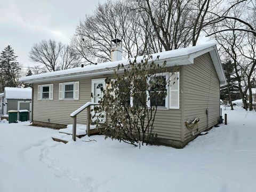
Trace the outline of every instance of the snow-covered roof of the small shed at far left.
<path fill-rule="evenodd" d="M 31 88 L 4 88 L 5 99 L 31 99 L 32 89 Z"/>

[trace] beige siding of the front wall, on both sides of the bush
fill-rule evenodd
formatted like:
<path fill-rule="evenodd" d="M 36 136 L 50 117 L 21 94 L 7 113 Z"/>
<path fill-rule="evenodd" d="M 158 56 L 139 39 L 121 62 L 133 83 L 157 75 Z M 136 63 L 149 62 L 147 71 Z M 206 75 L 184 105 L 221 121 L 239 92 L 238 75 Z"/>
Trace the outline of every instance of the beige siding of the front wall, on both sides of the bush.
<path fill-rule="evenodd" d="M 79 100 L 59 100 L 59 83 L 65 83 L 65 81 L 34 84 L 33 121 L 48 123 L 48 119 L 50 119 L 50 123 L 72 124 L 73 119 L 69 116 L 70 113 L 86 102 L 91 101 L 91 80 L 97 78 L 104 77 L 68 79 L 68 81 L 66 81 L 79 81 Z M 37 100 L 37 87 L 43 84 L 53 84 L 53 100 Z M 77 123 L 86 124 L 86 110 L 77 116 Z M 154 125 L 154 132 L 157 133 L 159 138 L 181 140 L 180 109 L 158 109 Z"/>

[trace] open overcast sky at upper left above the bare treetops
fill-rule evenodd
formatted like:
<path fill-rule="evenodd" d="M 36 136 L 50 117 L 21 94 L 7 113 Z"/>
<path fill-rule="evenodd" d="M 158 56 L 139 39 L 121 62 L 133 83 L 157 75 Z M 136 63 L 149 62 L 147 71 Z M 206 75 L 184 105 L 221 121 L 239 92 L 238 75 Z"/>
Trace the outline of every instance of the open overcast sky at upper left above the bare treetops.
<path fill-rule="evenodd" d="M 23 66 L 34 43 L 55 39 L 69 43 L 79 19 L 106 0 L 0 0 L 0 51 L 11 45 Z"/>

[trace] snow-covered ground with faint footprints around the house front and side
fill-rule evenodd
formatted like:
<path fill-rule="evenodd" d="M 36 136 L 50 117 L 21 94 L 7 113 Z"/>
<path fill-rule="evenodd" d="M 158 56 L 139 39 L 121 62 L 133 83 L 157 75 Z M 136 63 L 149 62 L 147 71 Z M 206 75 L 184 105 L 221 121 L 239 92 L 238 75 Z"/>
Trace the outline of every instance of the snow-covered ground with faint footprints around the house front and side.
<path fill-rule="evenodd" d="M 184 149 L 99 135 L 65 145 L 58 130 L 0 123 L 0 191 L 256 191 L 256 113 L 223 113 L 228 125 Z"/>

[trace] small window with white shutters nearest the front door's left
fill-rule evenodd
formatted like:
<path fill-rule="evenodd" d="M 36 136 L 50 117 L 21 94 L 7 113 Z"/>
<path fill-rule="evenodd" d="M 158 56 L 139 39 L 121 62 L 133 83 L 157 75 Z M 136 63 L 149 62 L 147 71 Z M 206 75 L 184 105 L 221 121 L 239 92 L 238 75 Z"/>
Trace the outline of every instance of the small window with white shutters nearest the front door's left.
<path fill-rule="evenodd" d="M 59 100 L 79 100 L 79 82 L 59 83 Z"/>

